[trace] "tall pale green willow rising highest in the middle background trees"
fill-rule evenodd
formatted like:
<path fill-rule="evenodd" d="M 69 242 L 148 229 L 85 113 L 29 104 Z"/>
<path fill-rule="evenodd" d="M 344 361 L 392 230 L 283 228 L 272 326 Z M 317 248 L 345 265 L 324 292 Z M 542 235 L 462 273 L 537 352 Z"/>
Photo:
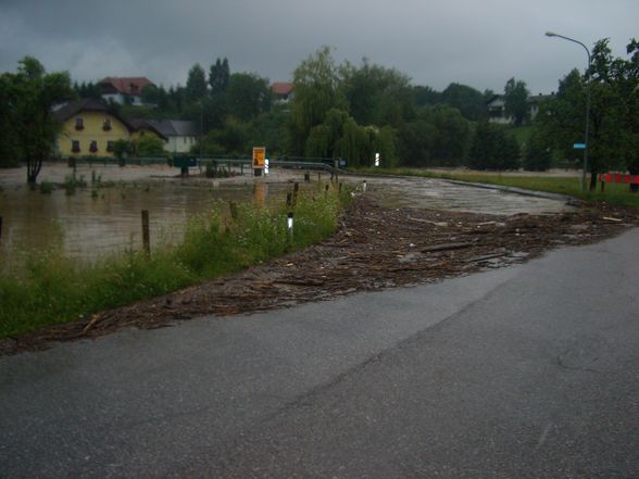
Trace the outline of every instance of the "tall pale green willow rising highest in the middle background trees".
<path fill-rule="evenodd" d="M 293 86 L 290 133 L 295 153 L 301 154 L 312 128 L 324 123 L 329 110 L 347 110 L 329 47 L 322 47 L 296 68 Z"/>

